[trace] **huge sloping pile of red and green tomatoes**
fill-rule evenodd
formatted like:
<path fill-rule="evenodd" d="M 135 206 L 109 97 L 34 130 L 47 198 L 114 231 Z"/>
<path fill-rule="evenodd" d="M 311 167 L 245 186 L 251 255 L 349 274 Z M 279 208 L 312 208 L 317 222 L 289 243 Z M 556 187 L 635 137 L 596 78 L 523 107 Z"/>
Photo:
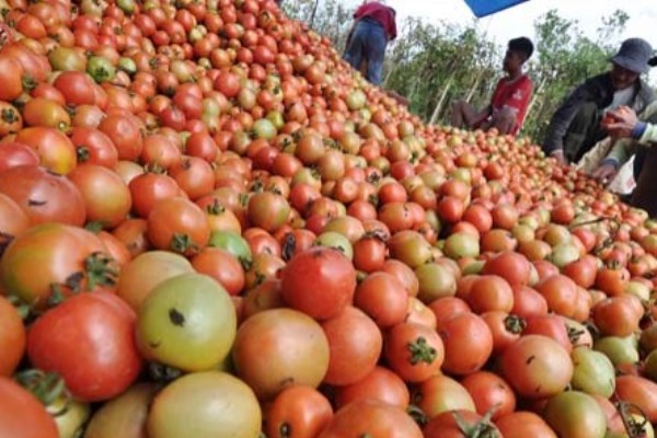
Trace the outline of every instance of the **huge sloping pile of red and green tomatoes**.
<path fill-rule="evenodd" d="M 657 222 L 274 0 L 0 0 L 0 436 L 653 437 Z"/>

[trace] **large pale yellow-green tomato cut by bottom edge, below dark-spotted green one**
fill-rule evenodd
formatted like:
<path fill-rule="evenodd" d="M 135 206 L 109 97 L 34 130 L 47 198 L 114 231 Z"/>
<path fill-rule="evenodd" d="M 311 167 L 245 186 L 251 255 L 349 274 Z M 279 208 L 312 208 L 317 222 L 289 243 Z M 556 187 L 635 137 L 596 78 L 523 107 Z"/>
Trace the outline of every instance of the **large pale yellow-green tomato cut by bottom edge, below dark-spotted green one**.
<path fill-rule="evenodd" d="M 238 378 L 219 371 L 194 372 L 176 379 L 153 400 L 148 414 L 150 437 L 253 438 L 262 413 L 253 391 Z M 191 429 L 192 427 L 192 429 Z"/>

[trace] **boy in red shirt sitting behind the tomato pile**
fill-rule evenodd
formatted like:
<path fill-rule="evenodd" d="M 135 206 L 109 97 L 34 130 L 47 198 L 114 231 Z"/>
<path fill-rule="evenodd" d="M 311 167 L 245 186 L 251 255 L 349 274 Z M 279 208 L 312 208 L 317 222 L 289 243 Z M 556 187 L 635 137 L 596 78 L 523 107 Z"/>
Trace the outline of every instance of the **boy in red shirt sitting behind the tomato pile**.
<path fill-rule="evenodd" d="M 522 72 L 522 66 L 531 57 L 533 44 L 529 38 L 509 41 L 503 69 L 507 73 L 497 82 L 491 104 L 483 111 L 475 110 L 465 101 L 452 106 L 451 125 L 458 128 L 497 128 L 499 134 L 517 135 L 531 99 L 533 84 Z"/>

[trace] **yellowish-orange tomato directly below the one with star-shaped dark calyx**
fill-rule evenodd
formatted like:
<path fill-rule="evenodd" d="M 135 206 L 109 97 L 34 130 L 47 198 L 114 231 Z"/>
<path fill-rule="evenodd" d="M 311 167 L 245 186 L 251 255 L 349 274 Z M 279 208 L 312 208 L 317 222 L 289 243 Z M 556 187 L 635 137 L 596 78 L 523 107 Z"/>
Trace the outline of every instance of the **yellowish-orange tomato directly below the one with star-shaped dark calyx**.
<path fill-rule="evenodd" d="M 476 411 L 474 400 L 465 387 L 443 374 L 434 376 L 419 383 L 413 392 L 413 403 L 428 419 L 448 411 Z"/>

